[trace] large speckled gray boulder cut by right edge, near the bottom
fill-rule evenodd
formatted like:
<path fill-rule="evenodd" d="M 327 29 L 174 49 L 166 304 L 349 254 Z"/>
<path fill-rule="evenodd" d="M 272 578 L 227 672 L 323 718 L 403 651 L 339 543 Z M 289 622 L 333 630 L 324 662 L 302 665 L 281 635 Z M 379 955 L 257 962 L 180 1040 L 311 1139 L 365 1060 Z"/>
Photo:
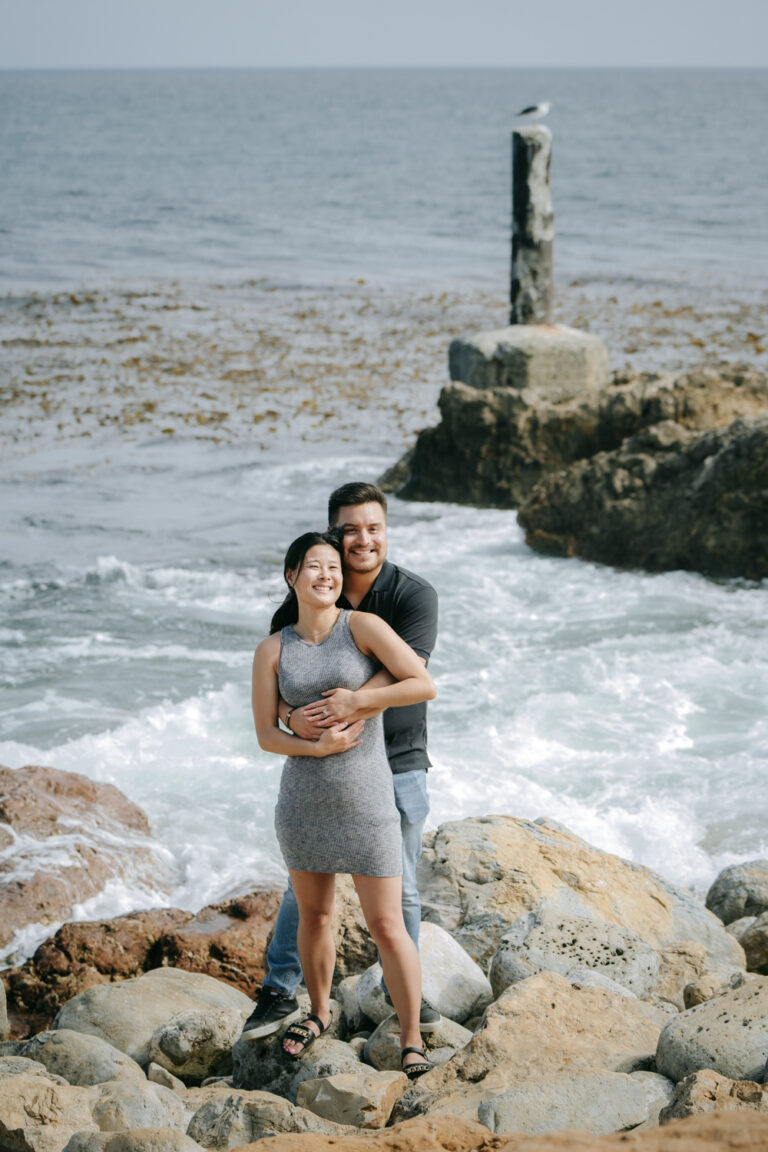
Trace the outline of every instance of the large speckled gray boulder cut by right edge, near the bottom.
<path fill-rule="evenodd" d="M 669 1021 L 656 1048 L 656 1069 L 675 1082 L 710 1068 L 729 1079 L 759 1081 L 768 1051 L 768 979 L 697 1005 Z"/>

